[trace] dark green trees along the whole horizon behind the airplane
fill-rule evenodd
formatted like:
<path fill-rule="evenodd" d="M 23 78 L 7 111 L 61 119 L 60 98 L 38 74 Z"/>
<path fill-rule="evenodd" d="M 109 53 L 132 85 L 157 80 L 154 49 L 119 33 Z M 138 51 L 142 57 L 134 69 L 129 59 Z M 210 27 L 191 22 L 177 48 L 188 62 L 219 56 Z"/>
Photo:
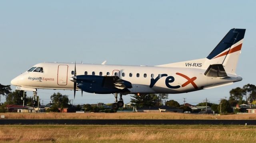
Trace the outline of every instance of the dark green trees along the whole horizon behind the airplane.
<path fill-rule="evenodd" d="M 38 106 L 38 98 L 34 99 L 36 104 L 33 104 L 32 96 L 27 97 L 26 92 L 23 90 L 15 90 L 11 91 L 10 85 L 2 85 L 0 84 L 0 103 L 1 98 L 4 96 L 6 101 L 2 105 L 2 107 L 8 104 L 23 104 L 23 94 L 24 94 L 24 105 L 28 106 Z M 212 108 L 212 111 L 215 113 L 231 113 L 233 112 L 232 106 L 236 106 L 237 104 L 256 104 L 256 86 L 253 84 L 246 84 L 242 88 L 236 87 L 230 90 L 230 97 L 227 99 L 220 99 L 220 104 L 214 104 L 207 102 L 207 106 Z M 170 107 L 176 107 L 183 109 L 184 111 L 191 111 L 191 108 L 187 108 L 185 106 L 181 106 L 177 101 L 168 100 L 168 94 L 134 94 L 131 96 L 130 102 L 132 102 L 133 106 L 137 108 L 141 108 L 144 106 L 162 106 L 167 105 Z M 62 95 L 59 92 L 54 93 L 50 96 L 52 100 L 52 107 L 48 109 L 48 112 L 58 112 L 59 108 L 70 108 L 71 104 L 69 103 L 68 96 Z M 40 102 L 39 102 L 40 105 Z M 98 109 L 95 107 L 90 107 L 90 104 L 85 104 L 84 106 L 79 106 L 80 108 L 85 108 L 87 111 L 98 112 L 104 109 Z M 206 106 L 206 102 L 202 102 L 197 104 L 197 106 Z M 239 110 L 236 112 L 240 112 Z"/>

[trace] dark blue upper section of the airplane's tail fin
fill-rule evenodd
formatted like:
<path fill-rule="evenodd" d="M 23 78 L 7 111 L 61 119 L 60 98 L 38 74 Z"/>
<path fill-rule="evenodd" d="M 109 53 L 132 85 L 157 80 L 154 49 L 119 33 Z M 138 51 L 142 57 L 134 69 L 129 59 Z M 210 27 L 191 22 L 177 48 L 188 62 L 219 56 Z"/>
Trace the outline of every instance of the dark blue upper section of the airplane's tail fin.
<path fill-rule="evenodd" d="M 208 55 L 207 59 L 212 59 L 216 55 L 219 55 L 236 42 L 244 38 L 244 33 L 246 29 L 230 29 L 226 36 L 218 43 L 218 45 L 213 49 L 213 51 Z"/>

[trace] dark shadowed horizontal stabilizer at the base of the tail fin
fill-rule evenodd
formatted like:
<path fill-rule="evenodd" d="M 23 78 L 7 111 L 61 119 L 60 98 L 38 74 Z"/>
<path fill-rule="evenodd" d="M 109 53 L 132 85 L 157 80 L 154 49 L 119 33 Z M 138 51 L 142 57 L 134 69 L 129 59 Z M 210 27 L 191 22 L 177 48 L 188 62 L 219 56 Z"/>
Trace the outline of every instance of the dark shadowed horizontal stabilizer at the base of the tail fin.
<path fill-rule="evenodd" d="M 210 77 L 227 77 L 227 73 L 222 64 L 210 65 L 204 72 L 204 75 Z"/>

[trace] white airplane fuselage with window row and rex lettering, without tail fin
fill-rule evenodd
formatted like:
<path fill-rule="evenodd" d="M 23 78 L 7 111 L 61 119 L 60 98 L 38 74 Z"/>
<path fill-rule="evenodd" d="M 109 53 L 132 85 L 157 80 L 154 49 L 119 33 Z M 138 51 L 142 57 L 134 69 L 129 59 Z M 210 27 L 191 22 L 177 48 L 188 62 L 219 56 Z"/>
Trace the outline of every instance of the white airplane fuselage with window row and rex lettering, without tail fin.
<path fill-rule="evenodd" d="M 75 64 L 39 63 L 34 67 L 42 67 L 44 71 L 26 71 L 14 78 L 11 84 L 36 89 L 74 89 L 74 82 L 70 81 L 69 78 L 74 76 L 72 71 L 74 71 Z M 93 72 L 95 75 L 101 76 L 106 76 L 109 73 L 108 76 L 116 75 L 122 80 L 131 82 L 132 88 L 129 88 L 131 94 L 192 92 L 242 80 L 239 76 L 230 76 L 229 79 L 205 76 L 205 69 L 193 67 L 76 64 L 76 75 L 86 73 L 92 75 Z M 77 88 L 77 90 L 80 89 Z"/>

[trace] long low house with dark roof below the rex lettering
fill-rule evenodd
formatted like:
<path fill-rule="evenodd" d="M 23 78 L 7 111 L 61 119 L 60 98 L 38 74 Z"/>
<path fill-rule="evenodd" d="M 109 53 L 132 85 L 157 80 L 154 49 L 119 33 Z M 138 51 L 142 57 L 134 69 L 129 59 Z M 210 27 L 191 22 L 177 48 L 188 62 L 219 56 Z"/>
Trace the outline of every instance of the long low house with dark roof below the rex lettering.
<path fill-rule="evenodd" d="M 176 107 L 170 107 L 170 106 L 144 106 L 141 108 L 136 108 L 135 112 L 177 112 L 177 113 L 183 113 L 182 109 L 176 108 Z"/>

